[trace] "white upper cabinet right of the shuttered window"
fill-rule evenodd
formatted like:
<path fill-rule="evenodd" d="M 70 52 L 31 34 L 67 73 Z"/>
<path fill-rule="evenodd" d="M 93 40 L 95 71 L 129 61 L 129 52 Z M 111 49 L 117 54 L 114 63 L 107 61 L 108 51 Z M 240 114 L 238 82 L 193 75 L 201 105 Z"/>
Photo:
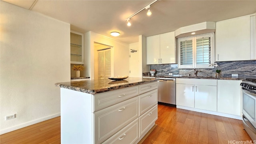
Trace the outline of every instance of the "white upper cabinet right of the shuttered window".
<path fill-rule="evenodd" d="M 255 16 L 216 22 L 216 61 L 254 59 L 251 48 L 255 49 Z"/>

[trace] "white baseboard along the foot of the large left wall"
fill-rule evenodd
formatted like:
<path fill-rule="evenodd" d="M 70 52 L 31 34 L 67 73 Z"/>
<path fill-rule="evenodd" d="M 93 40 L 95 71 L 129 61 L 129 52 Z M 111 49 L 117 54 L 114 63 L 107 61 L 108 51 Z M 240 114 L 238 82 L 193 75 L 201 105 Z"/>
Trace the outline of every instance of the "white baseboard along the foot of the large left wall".
<path fill-rule="evenodd" d="M 25 122 L 25 123 L 22 123 L 22 124 L 18 124 L 18 125 L 16 125 L 16 126 L 12 126 L 12 127 L 9 127 L 9 128 L 5 128 L 5 129 L 3 129 L 3 130 L 0 130 L 0 134 L 5 134 L 5 133 L 7 133 L 7 132 L 12 132 L 12 131 L 14 131 L 14 130 L 18 130 L 18 129 L 20 129 L 20 128 L 24 128 L 24 127 L 26 127 L 26 126 L 31 126 L 32 124 L 37 124 L 37 123 L 43 122 L 43 121 L 45 121 L 45 120 L 50 120 L 50 119 L 56 118 L 56 117 L 58 117 L 58 116 L 60 116 L 60 113 L 52 114 L 52 115 L 46 116 L 46 117 L 44 117 L 44 118 L 38 118 L 38 119 L 36 119 L 36 120 L 31 120 L 31 121 L 29 121 L 29 122 Z"/>

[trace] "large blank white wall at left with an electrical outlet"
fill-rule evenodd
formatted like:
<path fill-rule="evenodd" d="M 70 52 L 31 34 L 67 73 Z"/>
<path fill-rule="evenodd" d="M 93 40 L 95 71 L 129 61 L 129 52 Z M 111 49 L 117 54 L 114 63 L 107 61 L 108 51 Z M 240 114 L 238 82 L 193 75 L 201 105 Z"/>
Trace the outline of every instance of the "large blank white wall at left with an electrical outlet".
<path fill-rule="evenodd" d="M 1 4 L 0 134 L 60 115 L 60 88 L 70 81 L 70 24 Z M 5 116 L 16 118 L 5 120 Z"/>

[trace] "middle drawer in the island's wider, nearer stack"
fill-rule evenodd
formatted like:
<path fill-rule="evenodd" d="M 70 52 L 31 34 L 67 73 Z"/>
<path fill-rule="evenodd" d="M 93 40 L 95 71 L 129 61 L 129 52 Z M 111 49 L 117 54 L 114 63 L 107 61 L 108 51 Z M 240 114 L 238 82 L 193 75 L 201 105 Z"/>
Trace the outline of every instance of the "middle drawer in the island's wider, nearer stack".
<path fill-rule="evenodd" d="M 94 143 L 104 142 L 136 118 L 138 118 L 138 96 L 94 112 Z"/>

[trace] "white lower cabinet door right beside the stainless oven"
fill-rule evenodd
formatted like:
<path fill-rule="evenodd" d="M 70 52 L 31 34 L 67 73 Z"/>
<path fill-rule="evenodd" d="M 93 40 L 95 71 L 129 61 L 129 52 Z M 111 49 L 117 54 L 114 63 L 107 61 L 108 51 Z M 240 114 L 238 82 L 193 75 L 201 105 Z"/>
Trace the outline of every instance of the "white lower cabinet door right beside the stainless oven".
<path fill-rule="evenodd" d="M 218 80 L 218 112 L 241 115 L 241 82 L 241 80 Z"/>

